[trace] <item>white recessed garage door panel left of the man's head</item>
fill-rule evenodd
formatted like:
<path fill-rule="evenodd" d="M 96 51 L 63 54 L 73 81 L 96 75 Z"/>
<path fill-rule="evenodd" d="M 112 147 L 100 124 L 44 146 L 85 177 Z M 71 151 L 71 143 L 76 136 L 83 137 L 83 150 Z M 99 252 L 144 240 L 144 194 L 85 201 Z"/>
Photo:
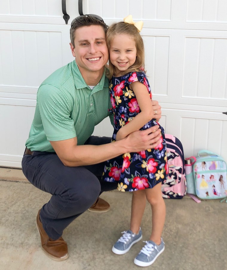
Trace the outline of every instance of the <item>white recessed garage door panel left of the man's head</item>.
<path fill-rule="evenodd" d="M 0 40 L 1 85 L 39 87 L 63 65 L 61 31 L 2 30 Z"/>

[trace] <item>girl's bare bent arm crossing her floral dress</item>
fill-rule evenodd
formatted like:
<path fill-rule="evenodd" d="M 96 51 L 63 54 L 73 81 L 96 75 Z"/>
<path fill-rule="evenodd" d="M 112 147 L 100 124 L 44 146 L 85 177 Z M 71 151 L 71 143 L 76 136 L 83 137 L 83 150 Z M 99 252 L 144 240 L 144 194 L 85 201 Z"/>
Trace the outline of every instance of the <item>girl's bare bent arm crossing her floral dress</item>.
<path fill-rule="evenodd" d="M 116 141 L 125 138 L 131 132 L 139 130 L 153 118 L 154 111 L 147 87 L 139 81 L 130 84 L 136 94 L 136 99 L 141 112 L 137 114 L 127 125 L 122 126 L 116 134 Z"/>

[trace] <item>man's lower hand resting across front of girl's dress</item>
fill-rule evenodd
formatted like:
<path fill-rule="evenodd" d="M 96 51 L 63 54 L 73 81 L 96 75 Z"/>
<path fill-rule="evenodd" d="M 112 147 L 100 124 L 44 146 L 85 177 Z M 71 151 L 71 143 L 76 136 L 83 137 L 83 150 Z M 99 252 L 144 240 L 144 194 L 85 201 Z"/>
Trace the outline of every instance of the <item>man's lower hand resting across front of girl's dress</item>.
<path fill-rule="evenodd" d="M 161 129 L 159 126 L 152 126 L 145 130 L 137 130 L 130 133 L 122 144 L 126 147 L 126 152 L 140 152 L 146 149 L 154 149 L 161 138 Z"/>

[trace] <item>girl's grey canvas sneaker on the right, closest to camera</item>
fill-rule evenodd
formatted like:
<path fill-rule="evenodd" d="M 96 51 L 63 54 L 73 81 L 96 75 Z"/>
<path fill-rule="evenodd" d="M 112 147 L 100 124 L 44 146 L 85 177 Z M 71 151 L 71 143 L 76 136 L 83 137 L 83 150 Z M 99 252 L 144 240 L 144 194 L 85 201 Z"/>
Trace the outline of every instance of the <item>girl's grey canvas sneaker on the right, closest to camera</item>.
<path fill-rule="evenodd" d="M 162 238 L 160 245 L 156 245 L 151 240 L 143 242 L 146 244 L 134 259 L 134 263 L 138 266 L 149 266 L 154 263 L 157 257 L 164 251 L 165 243 L 163 242 Z"/>

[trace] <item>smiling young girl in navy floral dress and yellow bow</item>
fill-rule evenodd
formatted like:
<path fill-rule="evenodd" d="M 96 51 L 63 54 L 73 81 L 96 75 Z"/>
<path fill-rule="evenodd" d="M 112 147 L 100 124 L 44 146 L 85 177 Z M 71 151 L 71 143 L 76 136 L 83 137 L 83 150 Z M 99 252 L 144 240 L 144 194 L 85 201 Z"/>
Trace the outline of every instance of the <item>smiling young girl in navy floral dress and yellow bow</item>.
<path fill-rule="evenodd" d="M 136 24 L 128 16 L 124 22 L 112 24 L 106 35 L 110 53 L 107 75 L 111 79 L 111 110 L 114 114 L 112 142 L 125 138 L 135 130 L 159 125 L 152 119 L 152 94 L 142 68 L 144 45 L 139 34 L 142 27 L 138 31 Z M 134 260 L 139 266 L 151 265 L 165 248 L 161 238 L 165 221 L 161 181 L 166 177 L 167 155 L 164 130 L 160 125 L 159 128 L 162 136 L 155 149 L 125 153 L 106 161 L 102 178 L 109 182 L 118 181 L 119 191 L 133 191 L 130 229 L 123 232 L 122 237 L 114 244 L 114 253 L 125 254 L 133 244 L 142 239 L 140 224 L 146 200 L 151 204 L 151 236 Z"/>

